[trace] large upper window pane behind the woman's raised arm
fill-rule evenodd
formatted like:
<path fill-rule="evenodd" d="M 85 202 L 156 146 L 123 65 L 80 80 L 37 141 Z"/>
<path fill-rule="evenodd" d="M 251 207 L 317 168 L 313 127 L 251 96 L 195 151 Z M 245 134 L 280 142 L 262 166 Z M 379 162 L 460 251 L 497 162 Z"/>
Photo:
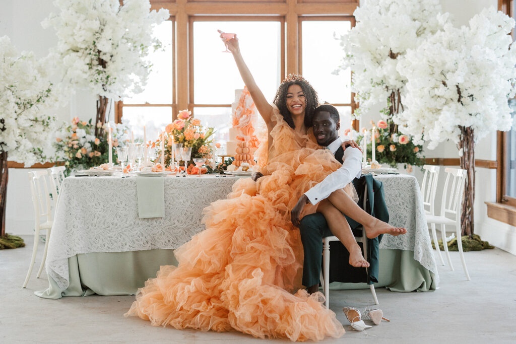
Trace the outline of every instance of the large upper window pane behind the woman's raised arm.
<path fill-rule="evenodd" d="M 231 104 L 244 88 L 232 54 L 217 29 L 238 35 L 240 51 L 256 84 L 272 102 L 280 84 L 280 22 L 194 22 L 193 76 L 195 104 Z"/>

